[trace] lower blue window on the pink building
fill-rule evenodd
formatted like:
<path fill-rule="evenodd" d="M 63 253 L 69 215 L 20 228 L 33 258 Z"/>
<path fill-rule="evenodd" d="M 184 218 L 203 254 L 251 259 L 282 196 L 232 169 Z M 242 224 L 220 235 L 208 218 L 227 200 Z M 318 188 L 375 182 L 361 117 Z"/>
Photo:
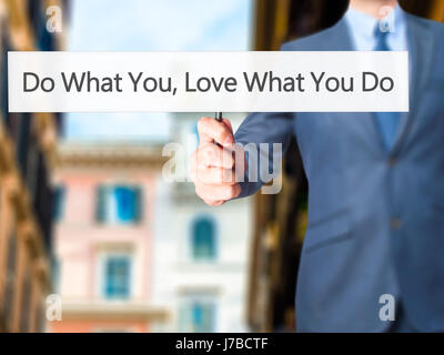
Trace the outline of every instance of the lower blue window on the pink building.
<path fill-rule="evenodd" d="M 104 290 L 107 300 L 128 300 L 131 295 L 131 258 L 111 255 L 104 261 Z"/>

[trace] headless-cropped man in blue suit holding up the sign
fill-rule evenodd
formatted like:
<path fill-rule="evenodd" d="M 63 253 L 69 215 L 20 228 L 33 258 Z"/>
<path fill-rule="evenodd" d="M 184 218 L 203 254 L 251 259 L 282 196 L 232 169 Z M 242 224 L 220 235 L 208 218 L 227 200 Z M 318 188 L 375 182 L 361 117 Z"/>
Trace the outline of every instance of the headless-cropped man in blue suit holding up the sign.
<path fill-rule="evenodd" d="M 379 26 L 384 6 L 394 8 L 394 32 Z M 351 0 L 339 23 L 282 50 L 408 50 L 410 112 L 252 113 L 235 134 L 228 120 L 203 118 L 198 195 L 215 206 L 253 194 L 263 181 L 223 179 L 244 165 L 229 148 L 285 151 L 294 135 L 310 192 L 297 331 L 444 332 L 444 26 L 393 0 Z"/>

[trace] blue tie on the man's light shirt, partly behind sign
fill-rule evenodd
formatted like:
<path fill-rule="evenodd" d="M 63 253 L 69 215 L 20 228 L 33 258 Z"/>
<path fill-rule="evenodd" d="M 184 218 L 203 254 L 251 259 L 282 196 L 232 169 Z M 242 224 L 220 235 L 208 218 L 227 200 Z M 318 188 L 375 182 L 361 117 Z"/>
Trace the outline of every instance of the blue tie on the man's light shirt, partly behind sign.
<path fill-rule="evenodd" d="M 380 29 L 380 23 L 376 24 L 376 29 L 374 32 L 374 36 L 376 38 L 376 47 L 375 51 L 390 51 L 390 47 L 387 43 L 387 32 L 383 32 Z M 400 123 L 400 112 L 376 112 L 376 122 L 377 125 L 380 126 L 382 140 L 384 142 L 385 148 L 390 151 L 392 150 L 395 139 L 396 139 L 396 133 L 397 133 L 397 126 Z"/>

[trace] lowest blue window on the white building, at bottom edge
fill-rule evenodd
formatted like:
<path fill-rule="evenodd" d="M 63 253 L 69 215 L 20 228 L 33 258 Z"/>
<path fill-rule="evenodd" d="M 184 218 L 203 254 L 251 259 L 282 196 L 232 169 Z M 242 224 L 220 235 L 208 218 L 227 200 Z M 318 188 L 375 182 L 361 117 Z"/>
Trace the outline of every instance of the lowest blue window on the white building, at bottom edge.
<path fill-rule="evenodd" d="M 179 311 L 179 329 L 184 333 L 215 332 L 215 303 L 212 298 L 188 296 Z"/>

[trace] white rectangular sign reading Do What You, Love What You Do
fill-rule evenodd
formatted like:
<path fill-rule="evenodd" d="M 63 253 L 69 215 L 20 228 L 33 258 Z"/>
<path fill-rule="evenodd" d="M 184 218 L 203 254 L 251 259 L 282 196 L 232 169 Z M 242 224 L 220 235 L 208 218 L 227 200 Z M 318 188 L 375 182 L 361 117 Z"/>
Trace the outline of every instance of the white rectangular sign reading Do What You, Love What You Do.
<path fill-rule="evenodd" d="M 9 52 L 11 112 L 408 111 L 407 52 Z"/>

